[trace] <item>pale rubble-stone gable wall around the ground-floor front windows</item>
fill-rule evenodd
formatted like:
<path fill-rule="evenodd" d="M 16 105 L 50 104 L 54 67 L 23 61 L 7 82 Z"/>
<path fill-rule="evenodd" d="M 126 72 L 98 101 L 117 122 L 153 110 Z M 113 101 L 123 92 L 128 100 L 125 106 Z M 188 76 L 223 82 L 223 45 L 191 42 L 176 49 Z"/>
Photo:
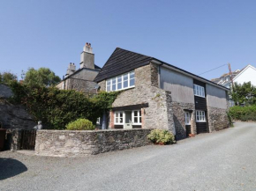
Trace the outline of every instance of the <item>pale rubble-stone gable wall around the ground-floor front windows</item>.
<path fill-rule="evenodd" d="M 124 107 L 148 103 L 144 108 L 144 127 L 150 129 L 169 129 L 174 132 L 171 94 L 158 87 L 157 67 L 154 64 L 140 67 L 135 72 L 135 87 L 117 96 L 112 107 Z M 154 80 L 153 80 L 154 78 Z M 110 121 L 111 123 L 111 121 Z"/>

